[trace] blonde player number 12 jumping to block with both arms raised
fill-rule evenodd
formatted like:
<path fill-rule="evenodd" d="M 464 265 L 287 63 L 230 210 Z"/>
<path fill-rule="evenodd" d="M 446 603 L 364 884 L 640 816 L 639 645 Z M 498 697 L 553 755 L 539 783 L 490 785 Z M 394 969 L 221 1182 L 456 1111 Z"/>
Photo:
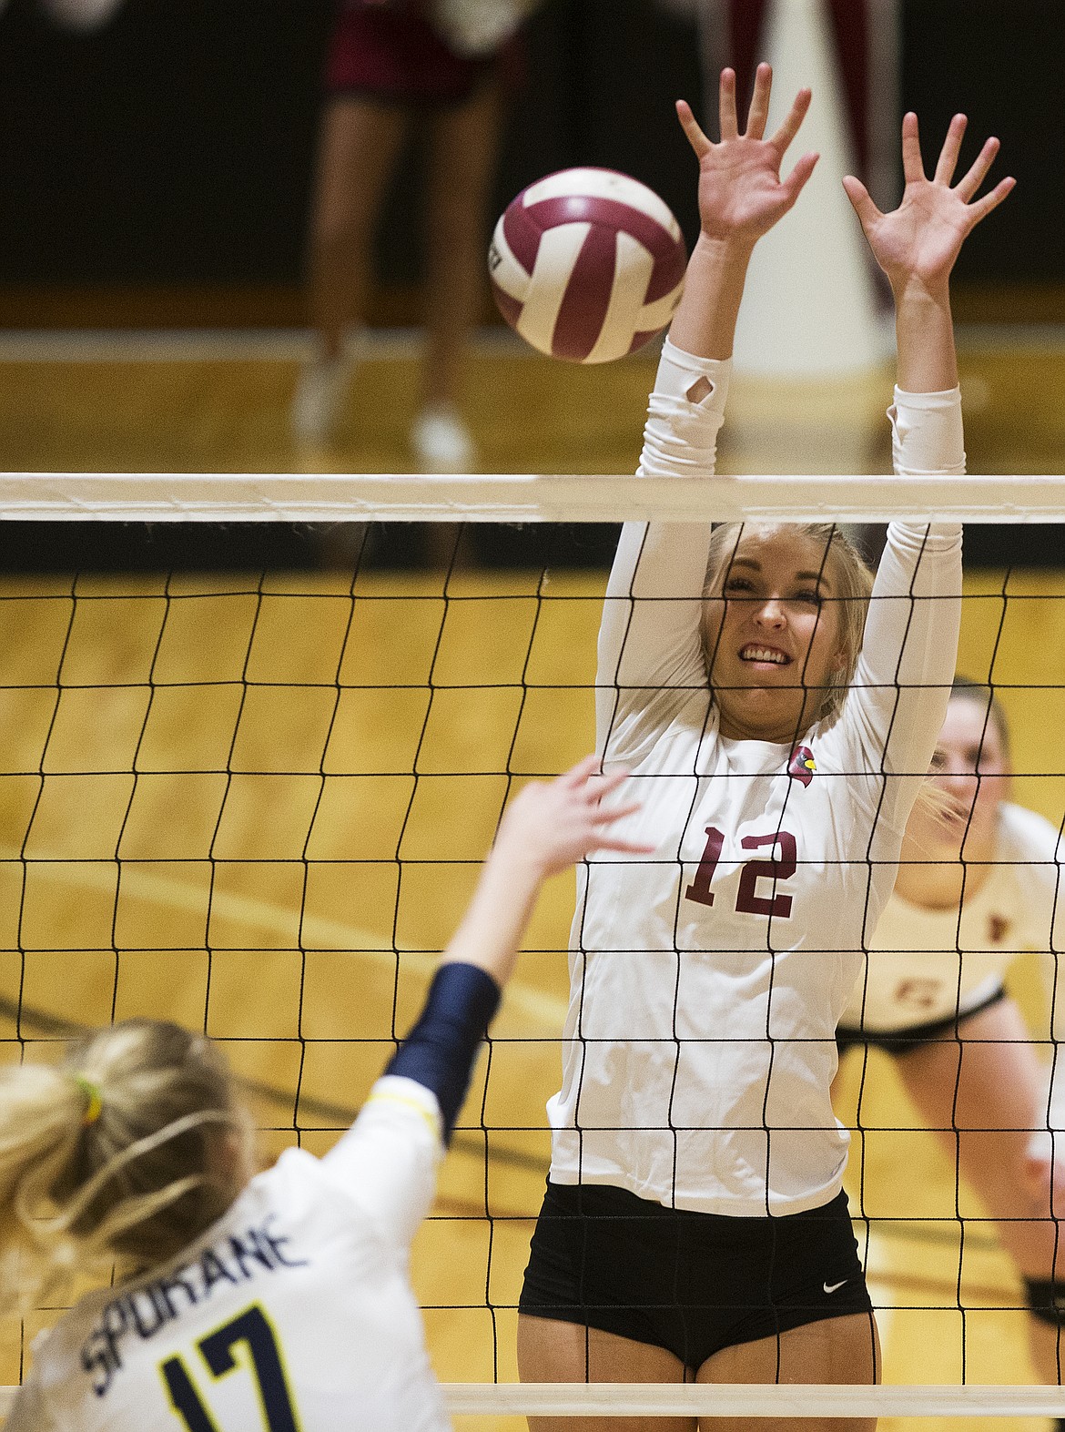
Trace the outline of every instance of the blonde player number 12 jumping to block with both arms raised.
<path fill-rule="evenodd" d="M 816 162 L 780 179 L 810 93 L 766 139 L 769 97 L 760 66 L 740 132 L 726 70 L 720 143 L 679 106 L 701 235 L 650 400 L 648 475 L 713 471 L 750 253 Z M 1012 186 L 975 198 L 988 140 L 952 188 L 963 127 L 958 116 L 928 179 L 906 116 L 892 213 L 846 180 L 895 291 L 902 473 L 963 470 L 949 274 Z M 521 1296 L 525 1379 L 879 1373 L 842 1191 L 835 1034 L 946 709 L 961 528 L 892 524 L 866 620 L 869 590 L 829 524 L 623 530 L 597 739 L 607 766 L 633 770 L 641 809 L 627 829 L 656 853 L 594 861 L 581 879 L 551 1171 Z"/>

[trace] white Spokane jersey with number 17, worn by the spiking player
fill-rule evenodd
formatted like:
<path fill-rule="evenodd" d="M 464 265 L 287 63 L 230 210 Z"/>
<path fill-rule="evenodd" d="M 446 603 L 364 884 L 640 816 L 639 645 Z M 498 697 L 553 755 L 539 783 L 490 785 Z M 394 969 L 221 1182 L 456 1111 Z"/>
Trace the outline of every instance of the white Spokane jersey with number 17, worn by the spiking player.
<path fill-rule="evenodd" d="M 66 1313 L 7 1432 L 444 1432 L 408 1283 L 441 1153 L 434 1094 L 378 1080 L 324 1158 L 288 1150 L 180 1259 Z"/>

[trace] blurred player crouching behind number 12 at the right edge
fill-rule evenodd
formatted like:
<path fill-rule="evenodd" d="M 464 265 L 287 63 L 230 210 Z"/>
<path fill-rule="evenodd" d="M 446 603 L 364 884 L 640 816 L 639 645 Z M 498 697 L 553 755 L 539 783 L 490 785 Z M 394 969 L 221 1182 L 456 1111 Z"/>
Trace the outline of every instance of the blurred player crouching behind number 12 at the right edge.
<path fill-rule="evenodd" d="M 1059 832 L 1009 800 L 1009 776 L 1002 707 L 988 686 L 956 679 L 929 776 L 945 803 L 913 808 L 837 1042 L 840 1055 L 872 1044 L 895 1057 L 915 1107 L 996 1220 L 1023 1279 L 1036 1372 L 1058 1383 L 1065 1249 L 1051 1219 L 1049 1130 L 1065 1118 L 1002 977 L 1022 951 L 1045 952 L 1056 1038 L 1062 957 L 1051 951 L 1065 891 Z"/>

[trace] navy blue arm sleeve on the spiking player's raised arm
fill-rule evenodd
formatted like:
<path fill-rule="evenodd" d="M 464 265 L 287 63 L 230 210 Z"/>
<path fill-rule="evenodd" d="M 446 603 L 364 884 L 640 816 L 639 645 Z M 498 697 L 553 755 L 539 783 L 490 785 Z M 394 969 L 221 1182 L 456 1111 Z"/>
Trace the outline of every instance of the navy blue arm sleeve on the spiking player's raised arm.
<path fill-rule="evenodd" d="M 478 965 L 441 965 L 432 977 L 418 1022 L 388 1064 L 437 1095 L 444 1143 L 451 1141 L 458 1111 L 488 1022 L 500 1004 L 500 987 Z"/>

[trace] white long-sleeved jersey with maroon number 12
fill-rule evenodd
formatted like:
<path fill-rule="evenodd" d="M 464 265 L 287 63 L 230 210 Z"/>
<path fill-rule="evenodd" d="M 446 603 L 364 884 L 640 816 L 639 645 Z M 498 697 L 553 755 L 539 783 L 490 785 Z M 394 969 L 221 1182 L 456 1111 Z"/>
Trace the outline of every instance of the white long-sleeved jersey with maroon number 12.
<path fill-rule="evenodd" d="M 641 473 L 713 471 L 727 378 L 667 342 Z M 896 471 L 963 471 L 956 391 L 896 390 L 890 415 Z M 626 833 L 656 853 L 595 856 L 578 885 L 551 1179 L 799 1213 L 842 1186 L 836 1024 L 943 722 L 961 527 L 892 524 L 853 687 L 794 749 L 717 732 L 699 633 L 709 538 L 630 523 L 607 589 L 598 749 L 633 770 L 626 799 L 643 806 Z"/>

